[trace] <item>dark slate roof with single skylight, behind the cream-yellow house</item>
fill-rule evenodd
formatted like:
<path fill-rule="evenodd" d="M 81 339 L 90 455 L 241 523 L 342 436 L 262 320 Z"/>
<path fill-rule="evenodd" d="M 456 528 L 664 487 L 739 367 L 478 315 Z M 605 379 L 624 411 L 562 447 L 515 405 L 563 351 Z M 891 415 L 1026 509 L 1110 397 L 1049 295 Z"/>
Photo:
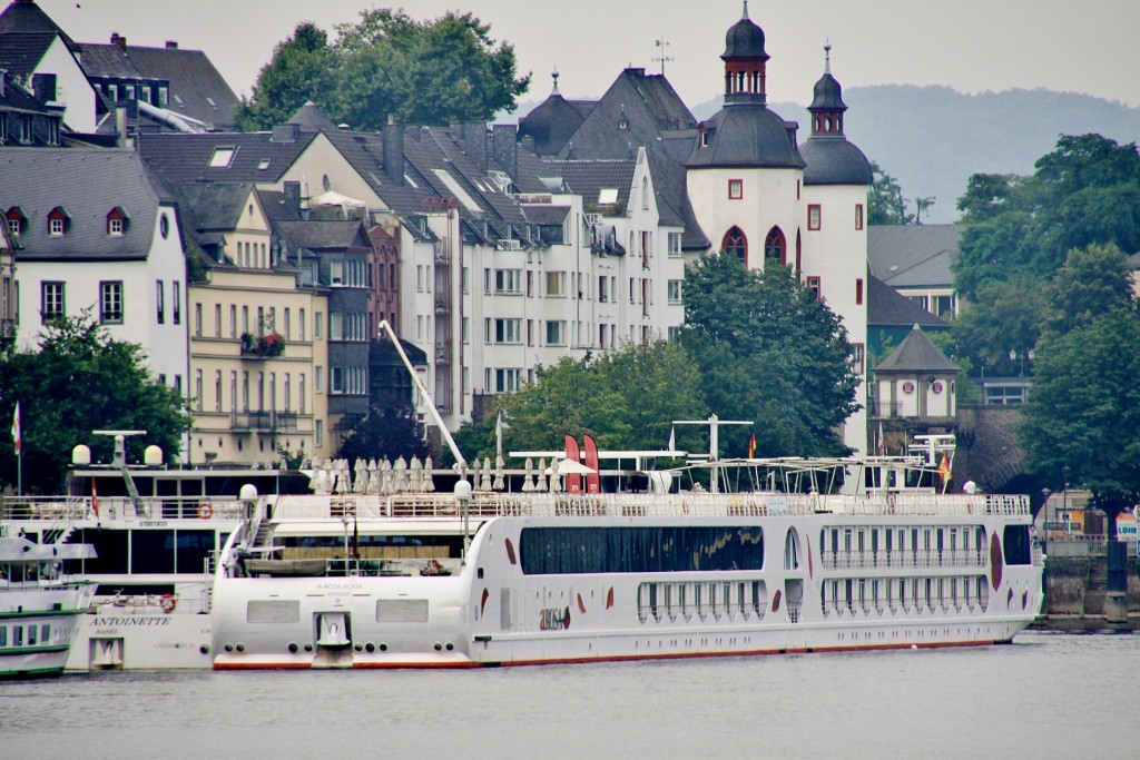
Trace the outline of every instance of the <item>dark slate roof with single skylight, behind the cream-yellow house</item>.
<path fill-rule="evenodd" d="M 316 132 L 299 130 L 288 140 L 272 139 L 270 132 L 210 132 L 206 134 L 145 133 L 138 137 L 139 153 L 152 171 L 173 182 L 277 182 L 296 161 Z M 228 167 L 211 167 L 215 148 L 236 148 Z M 258 169 L 268 160 L 266 169 Z"/>

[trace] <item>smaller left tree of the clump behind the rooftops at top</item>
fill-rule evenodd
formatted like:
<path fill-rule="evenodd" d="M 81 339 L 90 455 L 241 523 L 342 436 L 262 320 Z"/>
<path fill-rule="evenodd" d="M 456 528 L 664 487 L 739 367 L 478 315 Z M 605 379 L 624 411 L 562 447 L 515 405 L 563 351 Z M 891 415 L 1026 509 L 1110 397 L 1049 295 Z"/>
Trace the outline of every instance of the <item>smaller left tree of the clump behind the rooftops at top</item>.
<path fill-rule="evenodd" d="M 336 104 L 336 59 L 325 32 L 312 22 L 299 24 L 261 67 L 251 96 L 242 99 L 238 126 L 253 131 L 284 124 L 310 100 L 329 113 Z"/>

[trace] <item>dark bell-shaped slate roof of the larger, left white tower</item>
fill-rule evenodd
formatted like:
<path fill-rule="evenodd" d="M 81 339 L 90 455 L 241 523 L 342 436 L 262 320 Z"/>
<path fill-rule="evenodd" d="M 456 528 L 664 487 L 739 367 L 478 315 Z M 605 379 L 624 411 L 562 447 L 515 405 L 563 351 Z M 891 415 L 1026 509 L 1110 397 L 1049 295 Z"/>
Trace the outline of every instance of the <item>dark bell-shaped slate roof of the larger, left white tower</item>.
<path fill-rule="evenodd" d="M 796 149 L 793 124 L 759 103 L 731 104 L 703 124 L 708 146 L 692 142 L 685 165 L 690 169 L 749 166 L 803 169 Z"/>

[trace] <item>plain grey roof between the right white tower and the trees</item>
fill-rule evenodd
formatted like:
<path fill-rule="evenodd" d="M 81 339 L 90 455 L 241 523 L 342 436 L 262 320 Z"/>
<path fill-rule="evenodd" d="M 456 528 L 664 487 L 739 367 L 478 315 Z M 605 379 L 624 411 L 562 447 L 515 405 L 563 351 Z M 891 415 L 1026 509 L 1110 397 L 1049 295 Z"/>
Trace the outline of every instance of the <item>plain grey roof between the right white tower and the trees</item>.
<path fill-rule="evenodd" d="M 866 232 L 871 273 L 891 287 L 953 284 L 961 224 L 872 226 Z"/>

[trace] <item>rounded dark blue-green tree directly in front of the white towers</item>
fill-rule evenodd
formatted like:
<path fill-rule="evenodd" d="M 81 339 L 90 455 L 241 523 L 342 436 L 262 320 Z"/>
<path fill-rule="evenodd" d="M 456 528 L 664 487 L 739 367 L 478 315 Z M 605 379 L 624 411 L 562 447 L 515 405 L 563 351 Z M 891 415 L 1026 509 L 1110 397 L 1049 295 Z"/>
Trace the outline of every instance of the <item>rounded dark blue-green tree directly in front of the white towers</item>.
<path fill-rule="evenodd" d="M 847 451 L 836 431 L 858 408 L 854 350 L 839 317 L 790 268 L 756 272 L 734 256 L 705 256 L 686 269 L 684 303 L 682 345 L 708 409 L 755 420 L 760 456 Z M 748 435 L 722 440 L 743 451 Z"/>

